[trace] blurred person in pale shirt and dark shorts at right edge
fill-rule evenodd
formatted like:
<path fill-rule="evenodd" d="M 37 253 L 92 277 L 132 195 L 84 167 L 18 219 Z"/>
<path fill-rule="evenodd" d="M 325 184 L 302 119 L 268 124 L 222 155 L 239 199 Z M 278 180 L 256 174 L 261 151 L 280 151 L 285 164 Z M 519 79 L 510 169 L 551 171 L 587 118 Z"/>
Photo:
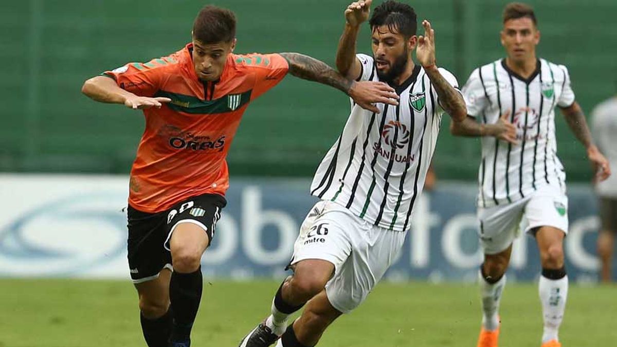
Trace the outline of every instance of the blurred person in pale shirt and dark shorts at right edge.
<path fill-rule="evenodd" d="M 592 131 L 598 147 L 609 162 L 617 162 L 617 96 L 603 101 L 594 108 Z M 600 231 L 598 233 L 598 256 L 600 256 L 600 280 L 611 282 L 611 261 L 617 233 L 617 175 L 595 182 L 595 191 L 600 202 Z"/>

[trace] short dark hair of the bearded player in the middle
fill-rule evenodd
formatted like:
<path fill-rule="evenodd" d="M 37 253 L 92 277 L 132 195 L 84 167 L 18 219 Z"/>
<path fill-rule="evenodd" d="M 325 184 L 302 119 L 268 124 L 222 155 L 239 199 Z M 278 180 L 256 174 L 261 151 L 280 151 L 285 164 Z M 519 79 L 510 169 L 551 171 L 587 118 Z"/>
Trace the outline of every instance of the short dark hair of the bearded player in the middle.
<path fill-rule="evenodd" d="M 405 37 L 416 35 L 418 30 L 418 20 L 413 7 L 393 0 L 387 0 L 375 7 L 368 23 L 371 25 L 371 30 L 387 25 L 390 31 L 398 31 Z"/>

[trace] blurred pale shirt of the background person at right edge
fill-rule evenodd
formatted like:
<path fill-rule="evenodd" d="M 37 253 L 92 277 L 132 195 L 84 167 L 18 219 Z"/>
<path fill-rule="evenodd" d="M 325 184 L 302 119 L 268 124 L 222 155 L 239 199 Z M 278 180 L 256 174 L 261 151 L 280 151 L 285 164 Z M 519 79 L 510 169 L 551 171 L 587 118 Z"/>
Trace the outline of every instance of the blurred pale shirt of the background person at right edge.
<path fill-rule="evenodd" d="M 617 198 L 617 97 L 603 101 L 591 112 L 594 139 L 611 164 L 613 174 L 595 185 L 598 195 Z"/>

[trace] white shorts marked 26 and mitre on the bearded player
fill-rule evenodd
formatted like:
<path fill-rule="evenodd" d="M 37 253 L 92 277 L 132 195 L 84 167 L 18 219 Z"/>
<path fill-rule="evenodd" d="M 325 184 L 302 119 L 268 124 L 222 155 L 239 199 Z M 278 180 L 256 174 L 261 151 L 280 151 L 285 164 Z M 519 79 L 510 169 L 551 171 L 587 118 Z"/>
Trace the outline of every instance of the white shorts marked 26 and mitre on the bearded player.
<path fill-rule="evenodd" d="M 334 264 L 326 283 L 328 300 L 338 311 L 358 307 L 395 261 L 406 232 L 372 225 L 331 201 L 319 201 L 300 226 L 290 264 L 322 259 Z"/>

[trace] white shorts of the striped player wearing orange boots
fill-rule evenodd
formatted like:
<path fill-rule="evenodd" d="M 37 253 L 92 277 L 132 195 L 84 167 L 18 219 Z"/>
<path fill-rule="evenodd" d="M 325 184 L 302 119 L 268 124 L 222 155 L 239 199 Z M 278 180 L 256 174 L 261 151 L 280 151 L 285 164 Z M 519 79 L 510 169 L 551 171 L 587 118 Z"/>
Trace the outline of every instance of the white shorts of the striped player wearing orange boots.
<path fill-rule="evenodd" d="M 560 188 L 545 186 L 507 205 L 478 207 L 480 245 L 484 254 L 507 249 L 521 230 L 555 227 L 568 233 L 568 197 Z"/>

